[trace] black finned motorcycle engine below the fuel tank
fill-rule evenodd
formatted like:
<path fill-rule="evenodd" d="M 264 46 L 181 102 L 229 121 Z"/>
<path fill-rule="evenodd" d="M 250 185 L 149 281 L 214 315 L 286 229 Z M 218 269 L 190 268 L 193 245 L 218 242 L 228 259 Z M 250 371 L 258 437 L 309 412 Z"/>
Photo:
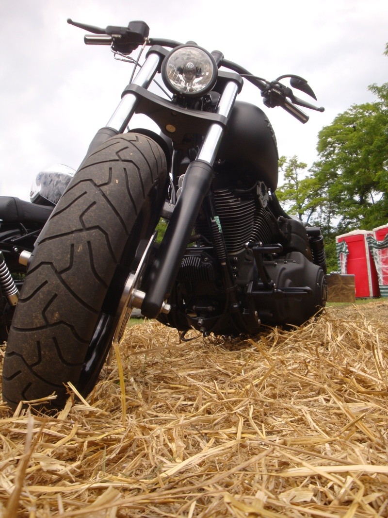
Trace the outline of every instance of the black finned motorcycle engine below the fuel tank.
<path fill-rule="evenodd" d="M 213 206 L 213 219 L 199 214 L 170 297 L 173 310 L 161 317 L 163 323 L 202 333 L 254 334 L 261 323 L 301 324 L 311 307 L 324 306 L 319 228 L 309 231 L 287 217 L 263 182 L 234 190 L 220 186 Z M 235 302 L 225 290 L 228 275 Z"/>

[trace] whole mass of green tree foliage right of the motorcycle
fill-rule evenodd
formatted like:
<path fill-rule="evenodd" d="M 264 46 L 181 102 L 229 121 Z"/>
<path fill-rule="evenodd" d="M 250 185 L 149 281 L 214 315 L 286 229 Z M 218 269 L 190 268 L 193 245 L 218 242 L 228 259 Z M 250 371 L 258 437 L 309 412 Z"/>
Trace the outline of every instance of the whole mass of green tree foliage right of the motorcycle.
<path fill-rule="evenodd" d="M 296 156 L 279 160 L 285 181 L 277 197 L 290 214 L 322 228 L 329 271 L 336 269 L 334 236 L 388 222 L 388 83 L 368 89 L 375 102 L 352 105 L 319 132 L 319 160 L 308 171 Z"/>

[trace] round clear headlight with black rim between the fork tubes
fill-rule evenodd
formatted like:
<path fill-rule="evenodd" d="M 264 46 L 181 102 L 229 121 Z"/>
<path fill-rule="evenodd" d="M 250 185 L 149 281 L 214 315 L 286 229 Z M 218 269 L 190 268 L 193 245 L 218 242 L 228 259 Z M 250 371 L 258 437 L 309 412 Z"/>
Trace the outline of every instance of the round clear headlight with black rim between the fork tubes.
<path fill-rule="evenodd" d="M 162 63 L 162 78 L 175 94 L 199 97 L 209 92 L 217 79 L 214 57 L 200 47 L 176 47 Z"/>

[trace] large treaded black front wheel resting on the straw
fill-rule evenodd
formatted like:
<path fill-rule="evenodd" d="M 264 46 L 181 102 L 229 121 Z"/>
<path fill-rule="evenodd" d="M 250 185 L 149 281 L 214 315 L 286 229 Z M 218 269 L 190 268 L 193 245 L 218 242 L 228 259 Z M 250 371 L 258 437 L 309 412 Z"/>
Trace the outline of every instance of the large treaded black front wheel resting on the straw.
<path fill-rule="evenodd" d="M 69 381 L 91 390 L 167 178 L 161 148 L 135 133 L 107 140 L 74 176 L 39 236 L 9 332 L 3 398 L 11 408 L 54 392 L 52 406 L 62 408 Z"/>

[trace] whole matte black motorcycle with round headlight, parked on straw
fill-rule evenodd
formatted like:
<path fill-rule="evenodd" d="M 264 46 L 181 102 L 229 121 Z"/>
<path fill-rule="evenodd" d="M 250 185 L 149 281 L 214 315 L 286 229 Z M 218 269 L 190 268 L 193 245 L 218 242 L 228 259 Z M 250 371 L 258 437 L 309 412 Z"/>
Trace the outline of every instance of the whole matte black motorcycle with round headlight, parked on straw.
<path fill-rule="evenodd" d="M 34 246 L 25 245 L 3 368 L 11 408 L 53 392 L 43 408 L 62 408 L 69 381 L 88 394 L 133 308 L 185 340 L 189 329 L 239 336 L 300 325 L 326 302 L 320 228 L 281 208 L 270 121 L 236 99 L 247 80 L 266 107 L 305 123 L 299 106 L 323 111 L 294 95 L 292 88 L 316 99 L 307 81 L 267 81 L 193 41 L 150 38 L 143 21 L 68 23 L 92 33 L 86 44 L 110 46 L 134 67 Z M 151 91 L 157 74 L 164 97 Z M 135 113 L 160 133 L 127 131 Z M 168 224 L 158 244 L 160 218 Z"/>

